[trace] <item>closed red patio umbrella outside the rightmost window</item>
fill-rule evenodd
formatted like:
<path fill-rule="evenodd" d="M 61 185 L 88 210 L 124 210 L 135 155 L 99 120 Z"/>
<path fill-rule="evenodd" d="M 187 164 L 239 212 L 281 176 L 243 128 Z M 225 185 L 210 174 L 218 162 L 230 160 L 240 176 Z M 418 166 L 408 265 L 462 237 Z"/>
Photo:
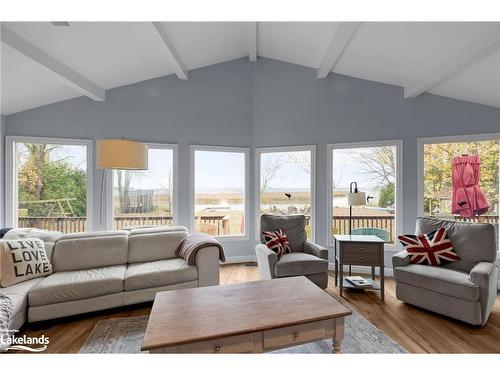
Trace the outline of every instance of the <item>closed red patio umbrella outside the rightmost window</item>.
<path fill-rule="evenodd" d="M 477 155 L 455 156 L 452 160 L 452 207 L 451 212 L 472 218 L 490 208 L 479 187 L 481 160 Z"/>

